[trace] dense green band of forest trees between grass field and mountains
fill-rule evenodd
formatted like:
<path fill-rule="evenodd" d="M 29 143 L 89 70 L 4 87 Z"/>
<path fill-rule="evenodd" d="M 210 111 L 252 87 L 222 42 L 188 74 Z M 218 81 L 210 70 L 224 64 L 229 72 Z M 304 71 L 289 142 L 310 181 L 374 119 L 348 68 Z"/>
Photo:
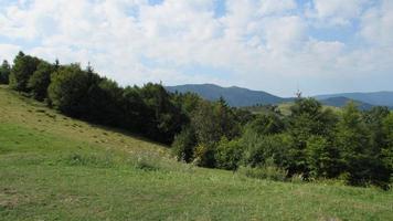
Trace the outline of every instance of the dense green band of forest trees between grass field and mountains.
<path fill-rule="evenodd" d="M 160 84 L 121 87 L 92 66 L 54 64 L 20 52 L 4 61 L 0 82 L 71 117 L 118 127 L 171 145 L 181 161 L 242 170 L 249 177 L 339 179 L 389 188 L 393 113 L 387 107 L 341 112 L 298 97 L 290 114 L 270 106 L 253 114 L 221 98 L 169 93 Z"/>

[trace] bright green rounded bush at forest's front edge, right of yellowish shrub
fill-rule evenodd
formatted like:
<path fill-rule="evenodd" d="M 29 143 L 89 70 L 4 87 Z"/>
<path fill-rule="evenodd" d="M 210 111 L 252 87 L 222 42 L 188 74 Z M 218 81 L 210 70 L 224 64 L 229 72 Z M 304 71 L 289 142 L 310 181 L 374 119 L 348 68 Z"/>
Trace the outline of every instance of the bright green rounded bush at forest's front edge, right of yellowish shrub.
<path fill-rule="evenodd" d="M 216 167 L 236 170 L 243 157 L 243 146 L 240 140 L 227 140 L 223 137 L 215 151 Z"/>

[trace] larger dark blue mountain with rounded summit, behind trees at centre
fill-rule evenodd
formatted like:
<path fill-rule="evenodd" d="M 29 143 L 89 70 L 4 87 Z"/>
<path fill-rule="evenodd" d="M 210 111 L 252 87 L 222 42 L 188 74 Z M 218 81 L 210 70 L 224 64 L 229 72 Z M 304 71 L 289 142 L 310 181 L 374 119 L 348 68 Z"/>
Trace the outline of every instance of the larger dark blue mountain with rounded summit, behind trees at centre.
<path fill-rule="evenodd" d="M 167 86 L 170 92 L 192 92 L 197 93 L 205 99 L 216 101 L 220 96 L 224 97 L 225 101 L 235 107 L 253 106 L 256 104 L 280 104 L 288 98 L 278 97 L 266 92 L 252 91 L 242 87 L 221 87 L 214 84 L 185 84 L 179 86 Z"/>

